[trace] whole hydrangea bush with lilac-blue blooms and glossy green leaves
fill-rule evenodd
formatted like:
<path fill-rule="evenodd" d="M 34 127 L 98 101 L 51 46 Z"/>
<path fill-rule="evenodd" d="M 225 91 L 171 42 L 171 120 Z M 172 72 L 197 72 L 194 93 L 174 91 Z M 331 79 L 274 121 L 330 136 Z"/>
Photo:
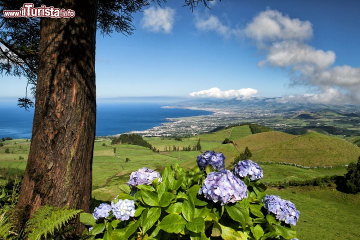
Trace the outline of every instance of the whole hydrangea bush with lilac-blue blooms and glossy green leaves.
<path fill-rule="evenodd" d="M 265 195 L 261 167 L 240 161 L 224 168 L 222 153 L 206 151 L 197 166 L 167 166 L 162 174 L 132 172 L 111 204 L 81 213 L 92 239 L 297 239 L 290 228 L 299 211 L 276 195 Z"/>

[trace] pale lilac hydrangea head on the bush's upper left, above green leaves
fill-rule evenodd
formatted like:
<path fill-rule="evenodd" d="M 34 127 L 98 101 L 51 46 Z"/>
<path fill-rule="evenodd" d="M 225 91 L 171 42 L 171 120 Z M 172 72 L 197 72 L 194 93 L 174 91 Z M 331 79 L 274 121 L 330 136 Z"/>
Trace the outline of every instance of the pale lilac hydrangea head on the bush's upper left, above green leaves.
<path fill-rule="evenodd" d="M 137 171 L 133 171 L 130 174 L 130 179 L 128 180 L 127 184 L 130 186 L 137 186 L 137 185 L 150 185 L 151 182 L 158 178 L 158 182 L 161 182 L 160 173 L 154 171 L 147 167 L 139 168 Z"/>

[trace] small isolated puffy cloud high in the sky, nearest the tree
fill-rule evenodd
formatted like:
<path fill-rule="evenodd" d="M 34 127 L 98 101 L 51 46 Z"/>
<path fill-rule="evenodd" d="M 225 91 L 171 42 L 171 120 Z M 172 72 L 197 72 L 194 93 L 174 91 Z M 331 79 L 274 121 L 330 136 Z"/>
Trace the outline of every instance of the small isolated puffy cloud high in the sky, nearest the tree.
<path fill-rule="evenodd" d="M 175 10 L 170 7 L 153 7 L 143 11 L 141 25 L 153 32 L 170 33 L 174 23 Z"/>

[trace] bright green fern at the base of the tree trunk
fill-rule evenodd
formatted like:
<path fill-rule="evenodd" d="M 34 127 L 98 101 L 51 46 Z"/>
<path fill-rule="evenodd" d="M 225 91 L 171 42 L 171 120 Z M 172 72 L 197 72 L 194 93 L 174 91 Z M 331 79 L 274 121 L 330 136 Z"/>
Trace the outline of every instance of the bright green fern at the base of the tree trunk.
<path fill-rule="evenodd" d="M 26 223 L 28 239 L 39 240 L 41 236 L 46 239 L 48 233 L 53 235 L 55 229 L 60 230 L 63 225 L 81 211 L 67 207 L 41 206 Z"/>

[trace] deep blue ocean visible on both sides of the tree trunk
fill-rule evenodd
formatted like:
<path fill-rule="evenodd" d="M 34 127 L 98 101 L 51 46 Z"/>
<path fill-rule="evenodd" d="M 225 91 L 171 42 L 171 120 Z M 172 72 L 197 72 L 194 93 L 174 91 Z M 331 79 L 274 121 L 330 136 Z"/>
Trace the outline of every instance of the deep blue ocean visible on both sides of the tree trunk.
<path fill-rule="evenodd" d="M 132 130 L 146 130 L 166 122 L 165 118 L 209 115 L 212 112 L 180 108 L 161 108 L 157 103 L 97 104 L 96 136 Z M 33 108 L 25 111 L 16 104 L 0 103 L 0 137 L 30 138 Z"/>

